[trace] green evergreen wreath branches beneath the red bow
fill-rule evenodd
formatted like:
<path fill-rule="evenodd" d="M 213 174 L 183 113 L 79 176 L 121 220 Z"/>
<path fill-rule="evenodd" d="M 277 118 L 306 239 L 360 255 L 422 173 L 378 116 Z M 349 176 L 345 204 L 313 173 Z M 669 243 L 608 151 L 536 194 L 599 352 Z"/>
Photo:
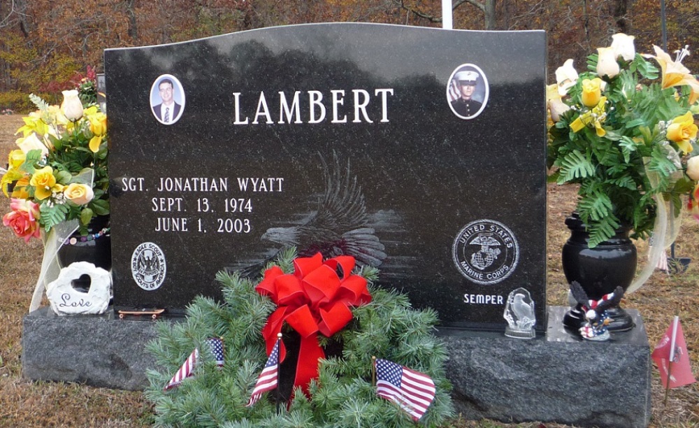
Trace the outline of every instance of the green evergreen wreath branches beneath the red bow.
<path fill-rule="evenodd" d="M 293 271 L 296 250 L 282 252 L 275 264 Z M 267 267 L 271 267 L 270 264 Z M 145 397 L 152 401 L 157 426 L 173 427 L 414 427 L 410 415 L 391 401 L 377 396 L 372 385 L 372 356 L 389 359 L 431 376 L 437 392 L 427 413 L 419 421 L 428 426 L 447 423 L 454 415 L 446 378 L 445 345 L 432 331 L 438 322 L 431 309 L 410 307 L 405 294 L 375 287 L 378 270 L 364 266 L 356 274 L 366 278 L 373 300 L 352 308 L 353 318 L 331 338 L 319 336 L 326 349 L 320 360 L 318 381 L 312 380 L 307 397 L 300 388 L 277 391 L 245 407 L 267 355 L 261 329 L 275 304 L 255 292 L 257 283 L 238 273 L 217 273 L 223 285 L 223 301 L 196 297 L 182 322 L 159 321 L 158 338 L 148 343 L 160 370 L 149 370 L 150 386 Z M 289 347 L 294 332 L 285 328 Z M 224 366 L 217 367 L 210 352 L 201 352 L 194 376 L 177 388 L 164 391 L 173 373 L 207 338 L 224 343 Z M 337 352 L 334 352 L 335 349 Z M 281 365 L 280 388 L 296 362 L 291 352 Z M 289 364 L 287 364 L 289 363 Z M 287 374 L 287 376 L 284 376 Z M 288 382 L 287 382 L 288 383 Z M 291 383 L 288 383 L 290 389 Z M 293 397 L 286 401 L 284 397 Z"/>

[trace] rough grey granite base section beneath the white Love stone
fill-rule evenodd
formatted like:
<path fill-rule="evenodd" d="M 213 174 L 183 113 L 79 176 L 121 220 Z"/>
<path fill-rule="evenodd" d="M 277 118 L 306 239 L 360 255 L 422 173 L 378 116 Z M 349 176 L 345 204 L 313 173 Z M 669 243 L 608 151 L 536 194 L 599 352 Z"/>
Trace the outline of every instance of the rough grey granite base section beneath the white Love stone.
<path fill-rule="evenodd" d="M 102 315 L 59 316 L 43 307 L 24 317 L 22 376 L 143 390 L 155 359 L 145 345 L 157 337 L 155 322 Z"/>

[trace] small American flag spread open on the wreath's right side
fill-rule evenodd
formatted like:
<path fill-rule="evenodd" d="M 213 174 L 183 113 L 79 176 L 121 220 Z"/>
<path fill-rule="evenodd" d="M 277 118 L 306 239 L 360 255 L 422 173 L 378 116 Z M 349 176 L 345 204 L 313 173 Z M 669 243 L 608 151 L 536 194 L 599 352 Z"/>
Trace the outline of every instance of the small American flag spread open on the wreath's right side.
<path fill-rule="evenodd" d="M 419 420 L 435 399 L 435 383 L 424 373 L 387 359 L 376 360 L 376 393 Z"/>

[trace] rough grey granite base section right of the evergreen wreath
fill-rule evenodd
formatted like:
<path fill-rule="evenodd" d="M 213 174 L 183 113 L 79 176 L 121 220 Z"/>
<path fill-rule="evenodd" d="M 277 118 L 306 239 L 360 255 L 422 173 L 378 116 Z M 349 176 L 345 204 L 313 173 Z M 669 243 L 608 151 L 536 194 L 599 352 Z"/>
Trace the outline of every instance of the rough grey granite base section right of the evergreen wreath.
<path fill-rule="evenodd" d="M 647 427 L 652 366 L 638 312 L 628 311 L 633 330 L 593 343 L 563 327 L 567 309 L 549 306 L 547 334 L 528 341 L 440 329 L 457 413 L 467 420 Z"/>

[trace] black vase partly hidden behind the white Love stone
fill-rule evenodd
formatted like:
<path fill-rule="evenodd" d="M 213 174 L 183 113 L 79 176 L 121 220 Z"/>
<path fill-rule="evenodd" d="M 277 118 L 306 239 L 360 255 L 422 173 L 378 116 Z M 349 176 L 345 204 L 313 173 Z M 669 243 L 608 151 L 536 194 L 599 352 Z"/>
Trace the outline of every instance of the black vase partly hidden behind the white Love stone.
<path fill-rule="evenodd" d="M 58 250 L 58 264 L 63 268 L 74 262 L 89 262 L 108 271 L 112 268 L 112 241 L 108 232 L 109 216 L 94 217 L 87 225 L 87 236 L 73 234 Z M 76 289 L 87 291 L 89 277 L 73 280 Z"/>

